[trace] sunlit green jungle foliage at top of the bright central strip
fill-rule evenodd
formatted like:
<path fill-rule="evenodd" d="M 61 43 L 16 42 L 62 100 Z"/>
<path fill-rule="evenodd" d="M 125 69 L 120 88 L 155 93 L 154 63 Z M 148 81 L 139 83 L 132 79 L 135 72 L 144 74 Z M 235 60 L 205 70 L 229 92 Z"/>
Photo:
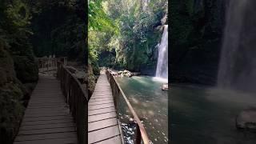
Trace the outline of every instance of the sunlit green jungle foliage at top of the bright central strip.
<path fill-rule="evenodd" d="M 166 0 L 90 0 L 89 58 L 94 66 L 140 71 L 156 65 Z"/>

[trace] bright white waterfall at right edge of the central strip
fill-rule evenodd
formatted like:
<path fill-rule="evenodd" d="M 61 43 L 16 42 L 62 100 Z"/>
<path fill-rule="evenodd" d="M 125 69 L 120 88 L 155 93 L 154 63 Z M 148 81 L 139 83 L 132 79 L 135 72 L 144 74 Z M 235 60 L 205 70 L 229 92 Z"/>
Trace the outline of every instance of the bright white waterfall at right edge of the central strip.
<path fill-rule="evenodd" d="M 168 25 L 164 25 L 162 40 L 158 44 L 156 77 L 168 79 Z"/>

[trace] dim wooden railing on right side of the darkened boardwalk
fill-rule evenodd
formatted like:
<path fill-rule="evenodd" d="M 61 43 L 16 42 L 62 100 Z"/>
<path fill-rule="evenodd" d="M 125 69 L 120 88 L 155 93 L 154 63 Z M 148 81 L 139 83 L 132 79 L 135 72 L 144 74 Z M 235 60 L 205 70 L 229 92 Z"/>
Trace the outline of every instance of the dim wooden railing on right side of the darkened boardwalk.
<path fill-rule="evenodd" d="M 62 93 L 66 103 L 70 106 L 70 112 L 76 123 L 78 143 L 85 144 L 88 141 L 86 123 L 88 121 L 88 95 L 87 86 L 82 87 L 78 78 L 75 78 L 69 70 L 58 62 L 57 78 L 60 80 Z"/>

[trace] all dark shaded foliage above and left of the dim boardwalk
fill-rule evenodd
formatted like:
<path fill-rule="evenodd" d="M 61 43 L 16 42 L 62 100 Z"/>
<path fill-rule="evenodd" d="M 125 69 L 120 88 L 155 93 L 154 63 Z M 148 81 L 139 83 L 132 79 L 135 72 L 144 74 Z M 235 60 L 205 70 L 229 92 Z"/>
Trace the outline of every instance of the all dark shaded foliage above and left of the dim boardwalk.
<path fill-rule="evenodd" d="M 87 63 L 86 3 L 0 0 L 0 143 L 18 133 L 38 81 L 35 57 L 55 54 Z"/>

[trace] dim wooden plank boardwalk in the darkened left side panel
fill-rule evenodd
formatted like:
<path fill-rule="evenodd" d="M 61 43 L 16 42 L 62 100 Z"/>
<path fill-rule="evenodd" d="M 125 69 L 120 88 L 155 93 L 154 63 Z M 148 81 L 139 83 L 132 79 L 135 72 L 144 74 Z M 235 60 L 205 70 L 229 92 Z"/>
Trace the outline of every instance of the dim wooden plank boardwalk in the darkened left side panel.
<path fill-rule="evenodd" d="M 59 81 L 39 76 L 14 144 L 71 144 L 78 138 Z"/>

